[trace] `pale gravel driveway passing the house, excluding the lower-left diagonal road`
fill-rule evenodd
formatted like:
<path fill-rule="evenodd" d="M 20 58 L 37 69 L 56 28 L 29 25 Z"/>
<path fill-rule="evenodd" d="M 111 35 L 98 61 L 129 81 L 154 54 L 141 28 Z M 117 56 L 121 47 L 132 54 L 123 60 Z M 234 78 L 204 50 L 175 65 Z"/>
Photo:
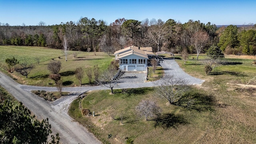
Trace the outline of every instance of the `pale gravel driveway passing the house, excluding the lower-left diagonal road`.
<path fill-rule="evenodd" d="M 201 80 L 199 78 L 195 78 L 193 76 L 190 76 L 186 72 L 184 72 L 180 66 L 177 64 L 175 60 L 164 60 L 160 63 L 162 68 L 164 69 L 165 74 L 174 75 L 174 78 L 182 78 L 188 82 L 189 85 L 201 85 L 204 80 Z M 132 73 L 130 76 L 133 78 L 127 77 L 128 80 L 125 80 L 125 78 L 121 78 L 120 82 L 118 82 L 118 85 L 114 88 L 144 88 L 144 87 L 153 87 L 156 86 L 156 83 L 158 82 L 145 82 L 146 73 Z M 139 78 L 140 80 L 134 80 L 134 77 L 143 77 Z M 161 81 L 158 80 L 158 81 Z M 45 90 L 45 91 L 58 91 L 55 87 L 41 87 L 41 86 L 27 86 L 27 85 L 20 85 L 20 87 L 24 90 Z M 107 90 L 109 88 L 106 88 L 104 86 L 84 86 L 84 87 L 66 87 L 63 88 L 64 92 L 79 92 L 79 91 L 88 91 L 88 90 Z"/>

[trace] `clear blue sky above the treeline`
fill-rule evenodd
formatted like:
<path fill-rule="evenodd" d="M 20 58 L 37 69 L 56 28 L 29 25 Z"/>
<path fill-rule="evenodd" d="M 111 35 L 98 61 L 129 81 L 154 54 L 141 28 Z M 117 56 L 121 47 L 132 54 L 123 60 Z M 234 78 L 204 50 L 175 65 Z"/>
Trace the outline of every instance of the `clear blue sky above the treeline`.
<path fill-rule="evenodd" d="M 0 22 L 11 26 L 78 22 L 88 17 L 109 25 L 118 18 L 200 20 L 216 25 L 256 23 L 256 0 L 0 0 Z"/>

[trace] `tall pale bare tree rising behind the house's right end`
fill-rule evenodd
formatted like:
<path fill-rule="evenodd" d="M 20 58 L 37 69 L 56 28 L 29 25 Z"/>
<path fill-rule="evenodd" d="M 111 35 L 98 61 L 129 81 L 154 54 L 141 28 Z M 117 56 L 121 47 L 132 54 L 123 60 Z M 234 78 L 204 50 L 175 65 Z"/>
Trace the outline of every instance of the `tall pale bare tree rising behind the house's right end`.
<path fill-rule="evenodd" d="M 150 38 L 154 43 L 157 44 L 157 52 L 159 52 L 159 45 L 164 40 L 166 30 L 164 29 L 164 22 L 159 19 L 150 20 L 150 27 L 148 28 L 148 38 Z"/>

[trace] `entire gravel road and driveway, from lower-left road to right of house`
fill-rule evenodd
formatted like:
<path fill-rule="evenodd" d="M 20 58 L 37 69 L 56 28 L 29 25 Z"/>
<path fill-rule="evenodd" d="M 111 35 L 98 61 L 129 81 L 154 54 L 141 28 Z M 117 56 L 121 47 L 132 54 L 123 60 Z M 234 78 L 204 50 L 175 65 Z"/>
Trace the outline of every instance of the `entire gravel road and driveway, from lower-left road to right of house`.
<path fill-rule="evenodd" d="M 204 80 L 194 78 L 186 74 L 175 62 L 175 60 L 164 60 L 160 65 L 164 68 L 165 74 L 172 74 L 174 78 L 183 78 L 188 81 L 190 85 L 200 85 Z M 128 80 L 125 80 L 128 78 Z M 132 81 L 131 78 L 136 79 Z M 132 74 L 132 76 L 124 75 L 117 86 L 114 88 L 143 88 L 157 86 L 156 83 L 161 82 L 144 82 L 146 73 Z M 53 132 L 60 133 L 61 141 L 63 144 L 100 144 L 90 132 L 74 122 L 68 116 L 68 106 L 80 94 L 88 90 L 106 90 L 109 88 L 103 86 L 84 86 L 84 87 L 66 87 L 63 88 L 64 92 L 71 92 L 70 96 L 64 96 L 55 102 L 47 102 L 32 94 L 31 90 L 45 90 L 45 91 L 58 91 L 56 87 L 40 87 L 40 86 L 26 86 L 16 83 L 12 78 L 0 72 L 0 85 L 4 87 L 10 94 L 17 100 L 21 101 L 28 109 L 30 109 L 39 119 L 49 118 L 49 123 L 52 125 Z"/>

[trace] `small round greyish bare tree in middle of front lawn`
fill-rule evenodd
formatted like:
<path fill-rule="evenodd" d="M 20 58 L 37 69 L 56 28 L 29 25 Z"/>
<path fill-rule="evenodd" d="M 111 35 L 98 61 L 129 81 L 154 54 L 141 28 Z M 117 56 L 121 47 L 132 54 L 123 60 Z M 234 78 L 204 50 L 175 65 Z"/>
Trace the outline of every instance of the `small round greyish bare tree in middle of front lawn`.
<path fill-rule="evenodd" d="M 136 106 L 136 110 L 140 116 L 145 116 L 146 120 L 148 117 L 159 116 L 162 112 L 161 108 L 156 105 L 154 101 L 151 100 L 142 100 L 138 106 Z"/>

